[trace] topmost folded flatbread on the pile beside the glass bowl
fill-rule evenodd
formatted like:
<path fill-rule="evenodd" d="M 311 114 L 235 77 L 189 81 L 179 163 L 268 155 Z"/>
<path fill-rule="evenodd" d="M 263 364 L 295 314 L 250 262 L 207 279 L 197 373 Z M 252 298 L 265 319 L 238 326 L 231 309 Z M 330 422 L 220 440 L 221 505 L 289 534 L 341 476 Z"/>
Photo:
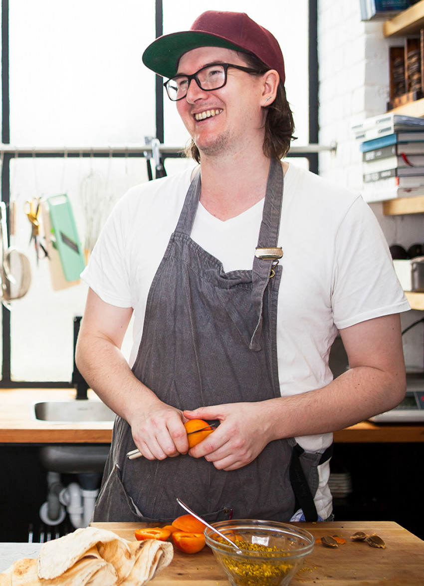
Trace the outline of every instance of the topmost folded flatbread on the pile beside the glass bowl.
<path fill-rule="evenodd" d="M 129 554 L 127 541 L 117 534 L 96 527 L 83 527 L 64 537 L 44 543 L 38 556 L 38 577 L 51 580 L 72 567 L 84 554 L 98 543 L 119 541 L 122 553 Z"/>

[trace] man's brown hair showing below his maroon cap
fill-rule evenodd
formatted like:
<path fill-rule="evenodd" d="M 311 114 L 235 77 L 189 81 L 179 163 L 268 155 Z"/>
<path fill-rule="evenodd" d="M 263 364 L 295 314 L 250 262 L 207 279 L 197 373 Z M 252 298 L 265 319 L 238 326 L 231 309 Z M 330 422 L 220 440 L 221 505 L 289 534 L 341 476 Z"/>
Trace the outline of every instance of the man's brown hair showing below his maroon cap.
<path fill-rule="evenodd" d="M 238 52 L 238 56 L 252 69 L 257 69 L 258 71 L 269 70 L 265 63 L 252 54 Z M 278 84 L 275 100 L 271 105 L 266 106 L 266 110 L 265 139 L 262 148 L 265 156 L 282 159 L 289 151 L 290 142 L 296 137 L 293 136 L 295 131 L 293 114 L 287 101 L 285 87 L 281 81 Z M 185 152 L 187 156 L 200 163 L 200 152 L 193 139 L 187 145 Z"/>

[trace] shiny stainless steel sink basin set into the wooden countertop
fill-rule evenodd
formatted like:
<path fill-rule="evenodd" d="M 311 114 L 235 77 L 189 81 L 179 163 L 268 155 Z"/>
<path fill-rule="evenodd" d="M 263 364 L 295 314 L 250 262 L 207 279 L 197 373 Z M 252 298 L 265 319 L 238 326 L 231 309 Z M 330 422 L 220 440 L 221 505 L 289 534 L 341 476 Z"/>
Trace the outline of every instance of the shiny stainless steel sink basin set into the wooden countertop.
<path fill-rule="evenodd" d="M 83 421 L 114 421 L 115 413 L 102 401 L 40 401 L 33 403 L 33 417 L 50 423 L 81 423 Z"/>

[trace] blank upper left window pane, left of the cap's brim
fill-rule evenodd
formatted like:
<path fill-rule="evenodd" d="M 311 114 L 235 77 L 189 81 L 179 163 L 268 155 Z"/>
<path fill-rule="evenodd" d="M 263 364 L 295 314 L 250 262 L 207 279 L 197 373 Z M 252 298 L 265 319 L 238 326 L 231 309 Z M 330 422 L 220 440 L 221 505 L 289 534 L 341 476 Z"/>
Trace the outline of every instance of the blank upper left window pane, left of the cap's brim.
<path fill-rule="evenodd" d="M 142 50 L 155 3 L 9 2 L 11 142 L 134 144 L 155 134 L 155 79 Z"/>

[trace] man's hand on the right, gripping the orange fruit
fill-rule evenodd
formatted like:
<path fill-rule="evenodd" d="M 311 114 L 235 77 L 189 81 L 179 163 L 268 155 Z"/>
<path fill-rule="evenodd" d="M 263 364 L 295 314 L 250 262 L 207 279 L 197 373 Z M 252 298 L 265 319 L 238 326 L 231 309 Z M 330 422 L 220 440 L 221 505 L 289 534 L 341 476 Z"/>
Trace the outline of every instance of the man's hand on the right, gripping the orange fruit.
<path fill-rule="evenodd" d="M 218 428 L 190 449 L 190 456 L 204 458 L 219 470 L 236 470 L 252 462 L 271 437 L 268 402 L 228 403 L 184 411 L 188 419 L 220 420 Z"/>

